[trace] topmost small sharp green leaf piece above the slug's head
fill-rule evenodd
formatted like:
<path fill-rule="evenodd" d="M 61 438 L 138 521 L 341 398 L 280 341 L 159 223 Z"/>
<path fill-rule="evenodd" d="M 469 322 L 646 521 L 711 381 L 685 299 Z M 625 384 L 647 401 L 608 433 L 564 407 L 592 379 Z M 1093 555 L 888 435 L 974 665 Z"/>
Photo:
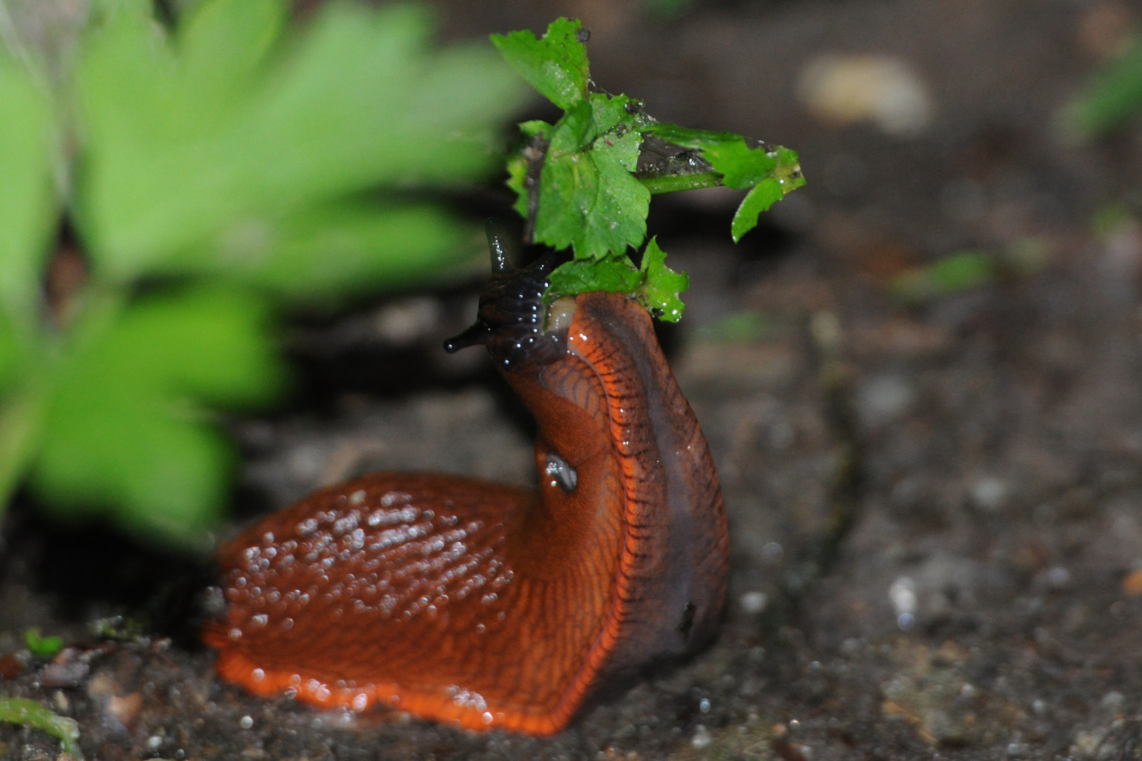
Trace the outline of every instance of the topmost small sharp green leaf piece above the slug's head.
<path fill-rule="evenodd" d="M 520 76 L 545 98 L 564 111 L 587 97 L 590 74 L 587 46 L 579 41 L 582 24 L 578 18 L 557 18 L 547 33 L 536 39 L 528 30 L 492 34 L 492 44 Z"/>

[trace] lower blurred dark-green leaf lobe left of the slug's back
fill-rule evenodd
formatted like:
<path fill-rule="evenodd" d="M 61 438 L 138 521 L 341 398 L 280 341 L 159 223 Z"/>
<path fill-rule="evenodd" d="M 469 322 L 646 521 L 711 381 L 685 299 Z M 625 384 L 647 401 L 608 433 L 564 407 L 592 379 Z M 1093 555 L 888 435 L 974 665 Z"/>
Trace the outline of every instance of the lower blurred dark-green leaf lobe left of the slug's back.
<path fill-rule="evenodd" d="M 63 516 L 98 508 L 193 540 L 218 519 L 233 465 L 203 405 L 262 405 L 281 388 L 266 323 L 260 299 L 218 288 L 128 307 L 61 369 L 33 489 Z"/>

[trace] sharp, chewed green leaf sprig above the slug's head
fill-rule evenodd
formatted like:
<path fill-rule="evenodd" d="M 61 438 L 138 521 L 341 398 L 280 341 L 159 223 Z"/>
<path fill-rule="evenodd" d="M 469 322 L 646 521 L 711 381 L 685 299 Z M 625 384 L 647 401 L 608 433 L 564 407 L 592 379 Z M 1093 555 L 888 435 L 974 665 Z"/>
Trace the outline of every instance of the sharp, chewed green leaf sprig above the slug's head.
<path fill-rule="evenodd" d="M 646 240 L 650 196 L 718 185 L 748 189 L 731 226 L 737 242 L 757 226 L 758 214 L 805 184 L 797 154 L 750 145 L 733 132 L 661 123 L 640 100 L 590 91 L 588 38 L 578 19 L 566 18 L 540 38 L 529 31 L 492 35 L 512 68 L 564 112 L 554 124 L 520 126 L 524 144 L 508 159 L 508 187 L 530 241 L 573 251 L 574 259 L 552 274 L 546 298 L 630 293 L 656 316 L 677 322 L 685 274 L 664 264 L 653 240 L 641 268 L 627 254 Z M 642 161 L 650 137 L 667 152 L 661 163 Z"/>

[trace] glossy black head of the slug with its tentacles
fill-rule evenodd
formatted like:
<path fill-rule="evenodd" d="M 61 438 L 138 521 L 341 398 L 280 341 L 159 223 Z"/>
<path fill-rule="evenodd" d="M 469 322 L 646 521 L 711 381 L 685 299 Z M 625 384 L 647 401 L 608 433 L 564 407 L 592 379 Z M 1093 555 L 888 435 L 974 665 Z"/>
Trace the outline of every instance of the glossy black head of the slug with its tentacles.
<path fill-rule="evenodd" d="M 449 354 L 483 343 L 500 370 L 521 365 L 546 365 L 566 354 L 568 310 L 573 300 L 560 299 L 550 309 L 544 303 L 547 276 L 558 266 L 555 253 L 546 253 L 526 267 L 514 268 L 502 240 L 488 230 L 492 278 L 480 294 L 476 323 L 444 341 Z"/>

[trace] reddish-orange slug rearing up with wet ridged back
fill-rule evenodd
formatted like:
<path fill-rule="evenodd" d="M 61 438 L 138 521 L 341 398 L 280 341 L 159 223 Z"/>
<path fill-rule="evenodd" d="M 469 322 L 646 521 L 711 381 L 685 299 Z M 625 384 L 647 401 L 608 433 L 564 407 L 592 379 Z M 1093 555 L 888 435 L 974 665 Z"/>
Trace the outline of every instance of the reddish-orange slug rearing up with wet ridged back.
<path fill-rule="evenodd" d="M 539 492 L 377 473 L 268 516 L 218 556 L 224 679 L 547 735 L 711 637 L 725 509 L 650 317 L 611 293 L 545 309 L 550 260 L 502 261 L 447 348 L 486 345 L 534 414 Z"/>

